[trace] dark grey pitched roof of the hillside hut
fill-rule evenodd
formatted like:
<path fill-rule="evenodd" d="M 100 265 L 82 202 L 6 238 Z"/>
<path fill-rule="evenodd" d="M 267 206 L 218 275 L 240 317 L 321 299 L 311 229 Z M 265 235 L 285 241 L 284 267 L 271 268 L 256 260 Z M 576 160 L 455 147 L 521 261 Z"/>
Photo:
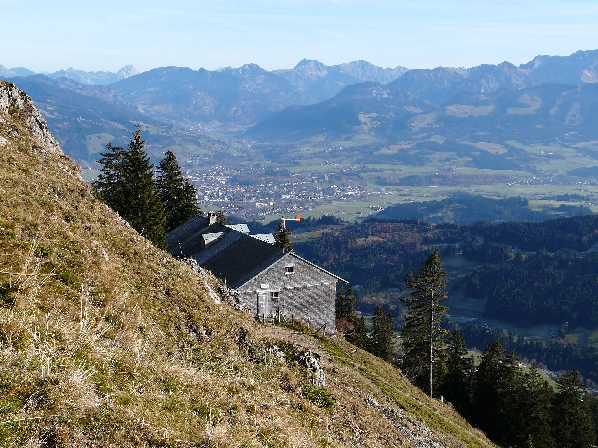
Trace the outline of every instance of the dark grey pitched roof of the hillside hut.
<path fill-rule="evenodd" d="M 202 248 L 202 234 L 219 232 L 224 232 L 224 235 Z M 217 223 L 209 226 L 208 219 L 202 216 L 194 216 L 171 231 L 166 237 L 166 245 L 171 255 L 196 259 L 198 265 L 209 269 L 233 289 L 243 286 L 282 257 L 292 255 L 301 258 L 288 252 L 283 254 L 279 247 L 227 226 Z M 307 263 L 344 281 L 313 263 Z"/>

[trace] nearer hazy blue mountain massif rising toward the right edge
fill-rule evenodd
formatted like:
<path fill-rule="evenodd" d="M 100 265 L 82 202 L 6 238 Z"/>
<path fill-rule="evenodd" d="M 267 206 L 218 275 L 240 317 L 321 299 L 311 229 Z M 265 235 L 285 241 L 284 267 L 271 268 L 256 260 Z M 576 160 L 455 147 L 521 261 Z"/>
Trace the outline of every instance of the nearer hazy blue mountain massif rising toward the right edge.
<path fill-rule="evenodd" d="M 471 69 L 409 70 L 382 85 L 344 88 L 292 106 L 246 131 L 261 140 L 370 133 L 388 143 L 416 134 L 489 142 L 598 139 L 598 50 Z M 408 94 L 407 94 L 408 93 Z"/>

